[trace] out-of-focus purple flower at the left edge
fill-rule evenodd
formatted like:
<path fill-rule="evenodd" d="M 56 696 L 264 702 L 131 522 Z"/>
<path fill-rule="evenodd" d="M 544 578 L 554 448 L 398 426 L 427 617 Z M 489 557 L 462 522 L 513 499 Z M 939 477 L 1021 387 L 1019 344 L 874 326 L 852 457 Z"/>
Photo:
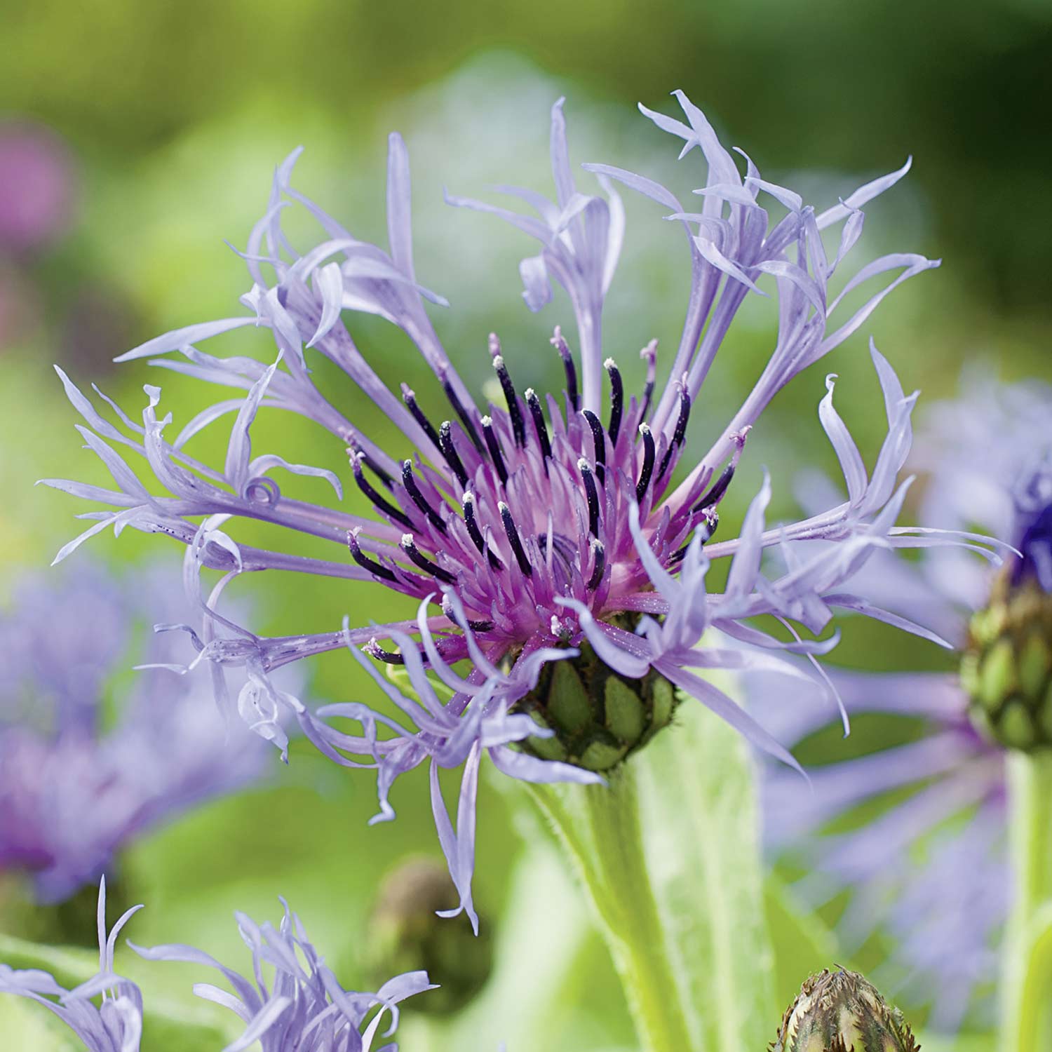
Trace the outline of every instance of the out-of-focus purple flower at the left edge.
<path fill-rule="evenodd" d="M 129 839 L 258 778 L 259 739 L 228 729 L 207 676 L 138 674 L 119 713 L 107 681 L 133 662 L 148 614 L 184 620 L 179 579 L 148 569 L 135 585 L 86 565 L 61 582 L 33 576 L 0 618 L 0 870 L 32 872 L 61 901 L 93 883 Z M 175 638 L 138 655 L 171 661 Z"/>

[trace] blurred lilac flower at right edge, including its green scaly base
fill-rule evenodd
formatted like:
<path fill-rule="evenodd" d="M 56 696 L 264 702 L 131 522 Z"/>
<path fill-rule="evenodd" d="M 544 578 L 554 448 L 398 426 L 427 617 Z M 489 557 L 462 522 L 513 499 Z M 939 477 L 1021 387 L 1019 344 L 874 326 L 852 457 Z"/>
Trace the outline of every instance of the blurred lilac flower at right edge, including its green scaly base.
<path fill-rule="evenodd" d="M 922 507 L 1020 554 L 992 569 L 959 549 L 889 552 L 858 584 L 943 632 L 965 652 L 960 673 L 834 671 L 856 717 L 835 750 L 816 746 L 830 721 L 813 692 L 793 707 L 769 682 L 753 697 L 814 764 L 811 786 L 766 772 L 772 855 L 808 908 L 835 916 L 846 952 L 887 951 L 875 974 L 950 1032 L 969 1013 L 992 1018 L 1011 893 L 1006 747 L 1047 747 L 1052 719 L 1052 387 L 973 369 L 962 388 L 915 437 Z M 825 480 L 803 482 L 805 504 L 825 506 Z"/>

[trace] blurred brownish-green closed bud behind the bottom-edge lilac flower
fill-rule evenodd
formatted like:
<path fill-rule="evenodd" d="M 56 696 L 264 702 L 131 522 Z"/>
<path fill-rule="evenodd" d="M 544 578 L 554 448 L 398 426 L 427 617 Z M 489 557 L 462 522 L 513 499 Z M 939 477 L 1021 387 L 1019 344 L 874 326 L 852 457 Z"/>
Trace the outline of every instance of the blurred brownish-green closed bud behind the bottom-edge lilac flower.
<path fill-rule="evenodd" d="M 436 1015 L 459 1011 L 482 989 L 493 963 L 489 926 L 476 937 L 467 916 L 437 916 L 457 905 L 445 866 L 430 858 L 406 862 L 384 879 L 369 918 L 369 970 L 378 988 L 391 975 L 426 971 L 438 989 L 412 1008 Z"/>

